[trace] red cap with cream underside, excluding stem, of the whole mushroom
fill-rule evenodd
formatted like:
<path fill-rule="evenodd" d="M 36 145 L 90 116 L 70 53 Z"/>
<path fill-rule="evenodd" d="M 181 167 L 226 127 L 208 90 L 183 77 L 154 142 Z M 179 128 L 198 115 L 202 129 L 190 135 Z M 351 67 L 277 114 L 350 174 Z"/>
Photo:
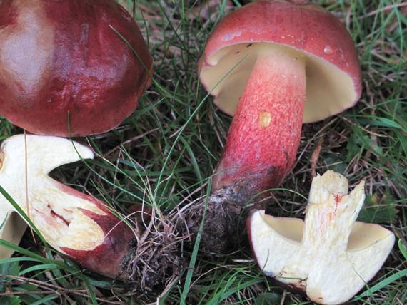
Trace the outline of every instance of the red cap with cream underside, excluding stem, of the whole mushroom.
<path fill-rule="evenodd" d="M 278 46 L 306 56 L 304 123 L 341 113 L 360 98 L 360 64 L 341 21 L 308 1 L 262 0 L 228 14 L 208 38 L 199 73 L 218 108 L 234 114 L 256 52 Z"/>

